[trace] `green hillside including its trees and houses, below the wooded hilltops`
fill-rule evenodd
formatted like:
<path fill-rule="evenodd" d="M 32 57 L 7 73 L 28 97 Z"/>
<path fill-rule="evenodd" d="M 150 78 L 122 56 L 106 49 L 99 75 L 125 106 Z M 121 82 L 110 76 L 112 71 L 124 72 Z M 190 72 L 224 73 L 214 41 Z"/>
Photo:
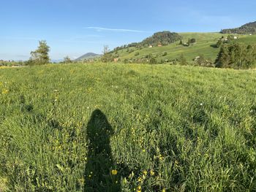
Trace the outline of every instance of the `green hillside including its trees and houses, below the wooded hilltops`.
<path fill-rule="evenodd" d="M 110 53 L 115 62 L 125 64 L 181 64 L 234 69 L 255 67 L 256 35 L 195 32 L 178 35 L 181 40 L 166 46 L 127 47 Z M 220 53 L 222 46 L 225 49 L 228 47 L 225 54 Z M 226 54 L 228 57 L 223 60 Z"/>

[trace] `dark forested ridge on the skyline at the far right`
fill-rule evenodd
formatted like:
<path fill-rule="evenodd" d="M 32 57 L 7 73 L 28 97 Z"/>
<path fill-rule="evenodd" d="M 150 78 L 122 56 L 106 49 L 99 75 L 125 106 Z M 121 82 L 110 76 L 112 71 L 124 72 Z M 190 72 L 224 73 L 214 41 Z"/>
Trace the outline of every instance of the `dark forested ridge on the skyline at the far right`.
<path fill-rule="evenodd" d="M 238 28 L 227 28 L 220 31 L 222 34 L 256 34 L 256 21 L 246 23 L 244 26 Z"/>

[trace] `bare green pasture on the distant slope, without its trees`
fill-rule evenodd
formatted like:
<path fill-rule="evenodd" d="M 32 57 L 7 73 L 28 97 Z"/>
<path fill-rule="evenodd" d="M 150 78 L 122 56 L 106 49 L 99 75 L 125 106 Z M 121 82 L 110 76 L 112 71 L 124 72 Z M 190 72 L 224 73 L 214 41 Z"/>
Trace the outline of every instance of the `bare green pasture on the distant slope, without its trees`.
<path fill-rule="evenodd" d="M 142 50 L 137 50 L 135 47 L 130 47 L 129 50 L 135 50 L 132 53 L 128 53 L 127 49 L 119 50 L 118 54 L 120 55 L 121 60 L 124 58 L 142 58 L 149 53 L 153 55 L 159 55 L 158 59 L 174 59 L 178 58 L 181 53 L 187 58 L 188 61 L 192 62 L 192 59 L 197 55 L 203 54 L 206 58 L 211 58 L 212 61 L 215 60 L 217 54 L 219 53 L 219 48 L 211 47 L 211 45 L 215 45 L 218 41 L 219 37 L 227 36 L 226 34 L 219 33 L 181 33 L 183 37 L 183 41 L 187 42 L 187 39 L 195 38 L 197 39 L 197 43 L 190 47 L 184 47 L 183 45 L 178 45 L 179 42 L 175 44 L 167 45 L 164 47 L 152 47 L 152 48 L 143 48 Z M 256 42 L 256 35 L 237 35 L 240 39 L 239 41 L 252 43 Z M 140 55 L 135 56 L 135 53 L 140 53 Z M 167 52 L 166 56 L 162 56 L 162 53 Z"/>

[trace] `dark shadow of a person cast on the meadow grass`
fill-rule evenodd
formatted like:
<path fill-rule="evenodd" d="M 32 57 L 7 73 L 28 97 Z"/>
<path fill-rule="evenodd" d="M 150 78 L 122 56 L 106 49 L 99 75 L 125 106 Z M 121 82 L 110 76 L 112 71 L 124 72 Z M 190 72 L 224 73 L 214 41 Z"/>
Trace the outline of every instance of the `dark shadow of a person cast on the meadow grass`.
<path fill-rule="evenodd" d="M 110 148 L 113 129 L 100 110 L 94 110 L 87 125 L 88 150 L 84 191 L 121 191 Z"/>

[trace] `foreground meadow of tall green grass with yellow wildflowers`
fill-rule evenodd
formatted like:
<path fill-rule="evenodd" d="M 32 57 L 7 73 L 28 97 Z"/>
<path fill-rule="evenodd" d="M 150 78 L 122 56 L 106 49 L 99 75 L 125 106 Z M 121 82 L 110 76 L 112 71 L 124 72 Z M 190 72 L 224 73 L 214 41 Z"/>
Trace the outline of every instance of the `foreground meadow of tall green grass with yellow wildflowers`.
<path fill-rule="evenodd" d="M 256 191 L 255 85 L 192 66 L 0 69 L 0 191 Z"/>

